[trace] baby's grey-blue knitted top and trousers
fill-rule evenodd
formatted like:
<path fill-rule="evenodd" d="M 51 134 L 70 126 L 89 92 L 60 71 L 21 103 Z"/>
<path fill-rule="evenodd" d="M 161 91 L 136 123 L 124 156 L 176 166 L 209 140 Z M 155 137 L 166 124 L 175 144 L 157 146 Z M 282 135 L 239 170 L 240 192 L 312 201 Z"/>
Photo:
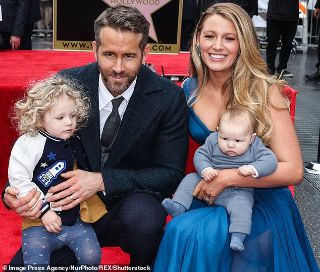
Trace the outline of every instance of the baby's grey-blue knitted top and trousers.
<path fill-rule="evenodd" d="M 200 175 L 205 168 L 237 169 L 243 165 L 251 165 L 258 172 L 259 179 L 275 172 L 278 166 L 276 155 L 263 145 L 260 138 L 255 137 L 245 153 L 231 157 L 220 150 L 218 132 L 207 137 L 205 143 L 196 150 L 193 161 L 198 174 L 187 175 L 172 199 L 186 209 L 190 208 L 193 190 L 202 180 Z M 230 215 L 230 233 L 250 234 L 253 188 L 228 187 L 215 199 L 214 204 L 225 207 Z"/>

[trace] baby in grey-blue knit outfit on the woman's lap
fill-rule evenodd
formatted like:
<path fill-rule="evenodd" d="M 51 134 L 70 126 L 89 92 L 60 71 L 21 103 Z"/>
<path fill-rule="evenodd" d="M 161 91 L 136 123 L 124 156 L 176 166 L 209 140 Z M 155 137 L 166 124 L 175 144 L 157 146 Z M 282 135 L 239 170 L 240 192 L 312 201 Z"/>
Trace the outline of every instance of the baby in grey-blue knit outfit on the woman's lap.
<path fill-rule="evenodd" d="M 277 157 L 256 136 L 255 124 L 253 115 L 238 106 L 222 114 L 218 132 L 212 132 L 194 154 L 197 173 L 187 175 L 173 199 L 167 198 L 162 202 L 172 217 L 190 208 L 194 188 L 202 179 L 212 181 L 218 175 L 215 169 L 238 168 L 239 175 L 254 178 L 276 171 Z M 210 197 L 203 198 L 208 202 Z M 243 241 L 251 231 L 253 188 L 228 187 L 215 199 L 214 204 L 224 206 L 230 215 L 230 248 L 242 251 Z"/>

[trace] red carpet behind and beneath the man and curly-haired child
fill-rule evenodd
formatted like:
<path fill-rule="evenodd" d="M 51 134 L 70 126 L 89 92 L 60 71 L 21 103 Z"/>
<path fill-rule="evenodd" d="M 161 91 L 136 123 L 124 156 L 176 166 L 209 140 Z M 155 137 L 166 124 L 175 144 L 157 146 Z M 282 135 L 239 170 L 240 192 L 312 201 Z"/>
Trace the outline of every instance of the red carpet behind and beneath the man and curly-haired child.
<path fill-rule="evenodd" d="M 59 70 L 82 66 L 94 62 L 93 52 L 72 51 L 0 51 L 0 116 L 2 141 L 0 141 L 0 188 L 8 181 L 8 163 L 11 147 L 18 134 L 13 128 L 9 115 L 12 105 L 21 98 L 28 85 L 55 74 Z M 189 54 L 150 55 L 157 72 L 162 74 L 188 74 Z M 196 146 L 195 146 L 196 147 Z M 192 164 L 192 160 L 189 161 Z M 191 172 L 191 169 L 190 169 Z M 0 201 L 0 264 L 6 264 L 21 246 L 22 219 L 8 211 Z M 101 263 L 127 264 L 129 255 L 120 248 L 104 248 Z"/>

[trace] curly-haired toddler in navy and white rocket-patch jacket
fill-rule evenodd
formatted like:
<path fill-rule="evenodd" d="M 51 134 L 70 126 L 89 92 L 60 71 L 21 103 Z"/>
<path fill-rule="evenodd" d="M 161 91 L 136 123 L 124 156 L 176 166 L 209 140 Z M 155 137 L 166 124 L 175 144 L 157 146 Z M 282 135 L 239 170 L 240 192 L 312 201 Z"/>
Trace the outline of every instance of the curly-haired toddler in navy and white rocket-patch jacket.
<path fill-rule="evenodd" d="M 89 107 L 81 86 L 60 76 L 39 82 L 16 103 L 15 120 L 22 136 L 12 148 L 9 182 L 19 189 L 18 198 L 36 189 L 41 193 L 39 201 L 43 201 L 40 219 L 24 219 L 22 223 L 24 264 L 50 263 L 50 253 L 62 246 L 73 250 L 79 264 L 100 263 L 101 249 L 88 224 L 106 213 L 99 197 L 94 195 L 81 207 L 78 204 L 68 210 L 52 208 L 46 202 L 51 195 L 48 189 L 66 180 L 61 174 L 77 168 L 90 170 L 80 139 L 74 134 L 86 124 Z M 70 202 L 75 200 L 72 195 L 69 198 Z M 89 206 L 94 206 L 94 213 Z"/>

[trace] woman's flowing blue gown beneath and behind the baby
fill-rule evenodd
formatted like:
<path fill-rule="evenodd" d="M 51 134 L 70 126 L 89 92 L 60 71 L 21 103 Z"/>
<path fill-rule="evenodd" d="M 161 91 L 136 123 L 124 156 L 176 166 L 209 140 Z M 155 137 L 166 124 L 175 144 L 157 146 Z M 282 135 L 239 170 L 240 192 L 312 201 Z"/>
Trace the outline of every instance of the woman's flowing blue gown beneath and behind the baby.
<path fill-rule="evenodd" d="M 188 96 L 197 79 L 184 83 Z M 189 108 L 190 134 L 203 144 L 210 131 Z M 320 271 L 300 213 L 287 187 L 255 189 L 251 234 L 244 250 L 229 249 L 229 215 L 222 206 L 194 199 L 190 210 L 165 229 L 153 270 L 183 272 L 308 272 Z"/>

